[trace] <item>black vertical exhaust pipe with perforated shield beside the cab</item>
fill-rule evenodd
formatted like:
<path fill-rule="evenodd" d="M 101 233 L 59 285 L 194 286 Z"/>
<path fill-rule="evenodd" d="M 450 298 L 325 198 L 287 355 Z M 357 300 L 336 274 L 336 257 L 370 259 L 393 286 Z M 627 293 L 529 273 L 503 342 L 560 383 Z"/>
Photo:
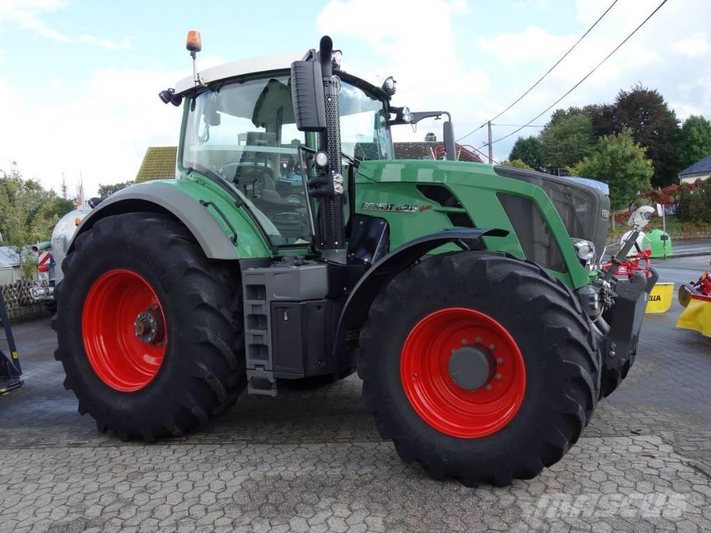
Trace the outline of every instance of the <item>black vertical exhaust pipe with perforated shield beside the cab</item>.
<path fill-rule="evenodd" d="M 328 154 L 327 171 L 341 174 L 341 113 L 338 109 L 338 91 L 341 82 L 333 75 L 333 41 L 328 36 L 319 44 L 319 63 L 324 82 L 326 104 L 326 131 L 319 132 L 319 150 Z M 351 194 L 353 191 L 351 191 Z M 321 244 L 324 259 L 346 263 L 346 221 L 343 217 L 343 195 L 321 199 Z"/>

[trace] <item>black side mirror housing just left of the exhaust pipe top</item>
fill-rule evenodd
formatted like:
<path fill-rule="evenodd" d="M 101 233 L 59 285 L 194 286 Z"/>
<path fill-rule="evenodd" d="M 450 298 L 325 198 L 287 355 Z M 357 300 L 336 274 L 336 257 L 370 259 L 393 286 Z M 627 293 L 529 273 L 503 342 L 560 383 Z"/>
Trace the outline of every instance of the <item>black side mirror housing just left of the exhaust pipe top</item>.
<path fill-rule="evenodd" d="M 292 63 L 292 104 L 299 131 L 326 130 L 324 80 L 318 61 Z"/>

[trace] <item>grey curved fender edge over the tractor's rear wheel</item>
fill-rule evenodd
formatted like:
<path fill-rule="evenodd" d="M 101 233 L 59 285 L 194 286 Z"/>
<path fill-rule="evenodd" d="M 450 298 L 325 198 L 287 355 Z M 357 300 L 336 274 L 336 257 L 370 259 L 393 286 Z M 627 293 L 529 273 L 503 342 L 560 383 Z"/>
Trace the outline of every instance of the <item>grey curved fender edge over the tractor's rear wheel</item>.
<path fill-rule="evenodd" d="M 237 259 L 237 232 L 232 227 L 225 232 L 210 209 L 218 210 L 213 202 L 198 201 L 177 188 L 158 183 L 132 185 L 109 196 L 82 220 L 68 251 L 73 249 L 77 236 L 97 220 L 124 212 L 148 211 L 165 212 L 183 222 L 208 258 Z M 220 212 L 215 215 L 219 216 Z"/>

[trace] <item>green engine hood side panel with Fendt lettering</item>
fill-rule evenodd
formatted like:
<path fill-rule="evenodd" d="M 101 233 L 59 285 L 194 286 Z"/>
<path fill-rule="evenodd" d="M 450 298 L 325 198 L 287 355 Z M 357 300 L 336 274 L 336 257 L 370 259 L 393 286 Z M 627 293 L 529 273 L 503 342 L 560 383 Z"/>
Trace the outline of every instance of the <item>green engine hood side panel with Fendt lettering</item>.
<path fill-rule="evenodd" d="M 456 201 L 433 200 L 423 185 L 449 190 Z M 506 237 L 483 237 L 488 249 L 521 258 L 526 258 L 523 247 L 498 194 L 527 198 L 545 220 L 546 227 L 539 228 L 545 233 L 542 237 L 557 247 L 565 264 L 565 269 L 548 269 L 550 274 L 571 289 L 589 283 L 589 271 L 580 264 L 571 236 L 545 191 L 525 181 L 499 176 L 491 165 L 461 161 L 363 161 L 355 178 L 355 189 L 356 212 L 387 220 L 391 248 L 466 224 L 469 217 L 469 227 L 496 227 L 509 232 Z"/>

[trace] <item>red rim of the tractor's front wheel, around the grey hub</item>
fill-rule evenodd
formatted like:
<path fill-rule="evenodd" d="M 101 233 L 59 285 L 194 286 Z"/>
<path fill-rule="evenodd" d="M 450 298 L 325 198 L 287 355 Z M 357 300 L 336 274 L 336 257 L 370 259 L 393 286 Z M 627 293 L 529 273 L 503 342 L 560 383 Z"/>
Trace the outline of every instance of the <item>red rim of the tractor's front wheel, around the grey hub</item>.
<path fill-rule="evenodd" d="M 449 359 L 464 345 L 492 348 L 496 374 L 476 390 L 459 387 Z M 402 347 L 400 378 L 412 408 L 437 431 L 479 438 L 500 431 L 518 412 L 526 389 L 523 356 L 508 330 L 473 309 L 451 307 L 422 318 Z"/>

